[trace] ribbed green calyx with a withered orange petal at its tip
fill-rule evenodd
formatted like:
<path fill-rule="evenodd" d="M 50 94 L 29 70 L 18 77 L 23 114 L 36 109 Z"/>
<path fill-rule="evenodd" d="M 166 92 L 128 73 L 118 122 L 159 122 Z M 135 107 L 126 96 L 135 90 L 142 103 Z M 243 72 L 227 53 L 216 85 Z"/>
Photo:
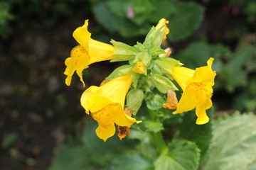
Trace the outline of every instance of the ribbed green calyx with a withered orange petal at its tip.
<path fill-rule="evenodd" d="M 171 80 L 167 77 L 161 76 L 159 74 L 154 74 L 152 77 L 152 81 L 156 89 L 158 89 L 162 94 L 166 94 L 167 90 L 178 90 L 178 88 L 174 85 Z"/>

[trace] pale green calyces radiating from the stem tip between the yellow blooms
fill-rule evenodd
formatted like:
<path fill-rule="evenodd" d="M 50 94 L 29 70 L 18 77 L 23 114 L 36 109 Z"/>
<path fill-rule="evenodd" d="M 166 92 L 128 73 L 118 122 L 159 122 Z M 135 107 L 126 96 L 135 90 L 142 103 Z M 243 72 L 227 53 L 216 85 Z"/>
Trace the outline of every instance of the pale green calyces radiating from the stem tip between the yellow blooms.
<path fill-rule="evenodd" d="M 146 35 L 145 41 L 143 43 L 137 42 L 134 46 L 111 40 L 115 48 L 112 54 L 115 58 L 111 62 L 128 61 L 128 64 L 114 69 L 106 79 L 111 80 L 123 74 L 131 74 L 134 89 L 151 91 L 155 87 L 162 94 L 165 94 L 168 89 L 178 90 L 169 76 L 171 75 L 172 67 L 181 66 L 182 64 L 173 58 L 159 57 L 159 55 L 166 53 L 160 47 L 164 37 L 164 31 L 161 28 L 155 29 L 152 27 Z M 151 86 L 144 86 L 145 84 L 139 83 L 137 87 L 139 80 L 140 82 L 147 81 L 145 84 L 151 84 Z M 134 96 L 134 94 L 131 95 Z M 133 105 L 127 103 L 127 106 Z M 136 113 L 135 108 L 131 109 Z"/>

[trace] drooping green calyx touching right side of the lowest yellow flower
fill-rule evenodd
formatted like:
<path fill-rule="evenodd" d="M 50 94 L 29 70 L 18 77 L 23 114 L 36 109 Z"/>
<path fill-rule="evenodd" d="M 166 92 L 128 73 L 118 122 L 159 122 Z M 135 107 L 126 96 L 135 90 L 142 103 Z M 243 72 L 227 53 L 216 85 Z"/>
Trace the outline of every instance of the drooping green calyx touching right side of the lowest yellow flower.
<path fill-rule="evenodd" d="M 142 101 L 144 98 L 144 93 L 140 89 L 132 89 L 127 94 L 127 104 L 129 109 L 132 109 L 132 114 L 136 115 L 139 111 L 140 106 L 142 106 Z"/>

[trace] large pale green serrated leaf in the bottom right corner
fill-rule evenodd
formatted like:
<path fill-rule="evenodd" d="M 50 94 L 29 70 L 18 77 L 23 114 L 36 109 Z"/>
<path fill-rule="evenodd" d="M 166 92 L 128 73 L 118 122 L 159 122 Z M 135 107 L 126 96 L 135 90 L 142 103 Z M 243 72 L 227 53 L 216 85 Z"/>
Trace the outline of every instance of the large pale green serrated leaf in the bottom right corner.
<path fill-rule="evenodd" d="M 202 169 L 247 169 L 256 159 L 255 115 L 234 113 L 213 123 L 213 139 Z"/>

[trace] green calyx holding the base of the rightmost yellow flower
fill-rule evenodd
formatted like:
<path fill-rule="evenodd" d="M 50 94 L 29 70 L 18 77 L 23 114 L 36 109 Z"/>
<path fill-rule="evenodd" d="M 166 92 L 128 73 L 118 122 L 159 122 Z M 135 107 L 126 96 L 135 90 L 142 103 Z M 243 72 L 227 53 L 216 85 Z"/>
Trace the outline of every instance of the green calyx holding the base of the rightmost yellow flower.
<path fill-rule="evenodd" d="M 171 74 L 171 67 L 183 65 L 180 61 L 169 57 L 162 57 L 155 61 L 163 74 Z"/>

